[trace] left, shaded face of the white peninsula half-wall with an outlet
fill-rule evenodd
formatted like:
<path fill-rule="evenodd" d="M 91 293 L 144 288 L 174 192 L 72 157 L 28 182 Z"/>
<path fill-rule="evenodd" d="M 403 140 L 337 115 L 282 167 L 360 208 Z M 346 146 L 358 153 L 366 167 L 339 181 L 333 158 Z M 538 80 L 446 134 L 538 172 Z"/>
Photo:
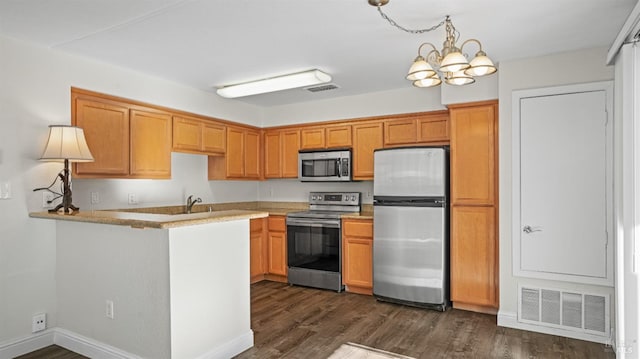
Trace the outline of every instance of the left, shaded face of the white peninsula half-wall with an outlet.
<path fill-rule="evenodd" d="M 57 253 L 59 327 L 143 358 L 170 357 L 169 230 L 58 221 Z"/>

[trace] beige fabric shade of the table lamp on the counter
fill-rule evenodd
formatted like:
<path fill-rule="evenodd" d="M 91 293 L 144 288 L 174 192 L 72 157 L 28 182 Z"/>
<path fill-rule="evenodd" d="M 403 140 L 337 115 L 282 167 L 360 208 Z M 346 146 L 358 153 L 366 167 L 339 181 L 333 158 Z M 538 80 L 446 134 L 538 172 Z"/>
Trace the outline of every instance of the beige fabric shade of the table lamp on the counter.
<path fill-rule="evenodd" d="M 92 162 L 93 156 L 80 127 L 66 125 L 49 126 L 49 139 L 40 157 L 43 161 Z"/>

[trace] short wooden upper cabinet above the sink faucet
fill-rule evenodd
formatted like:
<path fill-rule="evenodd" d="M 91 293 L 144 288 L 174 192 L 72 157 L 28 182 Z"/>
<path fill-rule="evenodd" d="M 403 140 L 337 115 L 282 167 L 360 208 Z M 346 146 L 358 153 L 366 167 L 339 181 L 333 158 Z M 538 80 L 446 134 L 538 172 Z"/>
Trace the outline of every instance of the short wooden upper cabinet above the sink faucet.
<path fill-rule="evenodd" d="M 173 150 L 199 154 L 224 154 L 226 126 L 213 121 L 173 116 Z"/>

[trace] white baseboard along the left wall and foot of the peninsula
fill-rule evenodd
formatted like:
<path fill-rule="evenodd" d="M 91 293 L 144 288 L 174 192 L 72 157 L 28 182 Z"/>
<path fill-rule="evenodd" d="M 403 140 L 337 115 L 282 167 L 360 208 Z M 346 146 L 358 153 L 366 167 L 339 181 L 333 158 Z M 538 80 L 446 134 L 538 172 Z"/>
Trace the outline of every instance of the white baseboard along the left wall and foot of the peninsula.
<path fill-rule="evenodd" d="M 20 339 L 0 343 L 0 359 L 11 359 L 50 345 L 59 345 L 92 359 L 138 359 L 137 355 L 98 342 L 91 338 L 61 328 L 51 328 Z M 238 336 L 230 342 L 214 348 L 199 359 L 226 359 L 253 346 L 253 331 Z"/>

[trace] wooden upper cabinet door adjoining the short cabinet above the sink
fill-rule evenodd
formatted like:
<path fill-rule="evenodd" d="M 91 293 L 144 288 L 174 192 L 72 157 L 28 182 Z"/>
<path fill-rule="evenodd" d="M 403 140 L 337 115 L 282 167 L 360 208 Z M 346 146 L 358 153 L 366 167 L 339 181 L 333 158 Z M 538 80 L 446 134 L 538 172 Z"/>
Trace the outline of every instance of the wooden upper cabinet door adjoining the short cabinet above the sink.
<path fill-rule="evenodd" d="M 171 178 L 171 115 L 131 110 L 131 177 Z"/>

